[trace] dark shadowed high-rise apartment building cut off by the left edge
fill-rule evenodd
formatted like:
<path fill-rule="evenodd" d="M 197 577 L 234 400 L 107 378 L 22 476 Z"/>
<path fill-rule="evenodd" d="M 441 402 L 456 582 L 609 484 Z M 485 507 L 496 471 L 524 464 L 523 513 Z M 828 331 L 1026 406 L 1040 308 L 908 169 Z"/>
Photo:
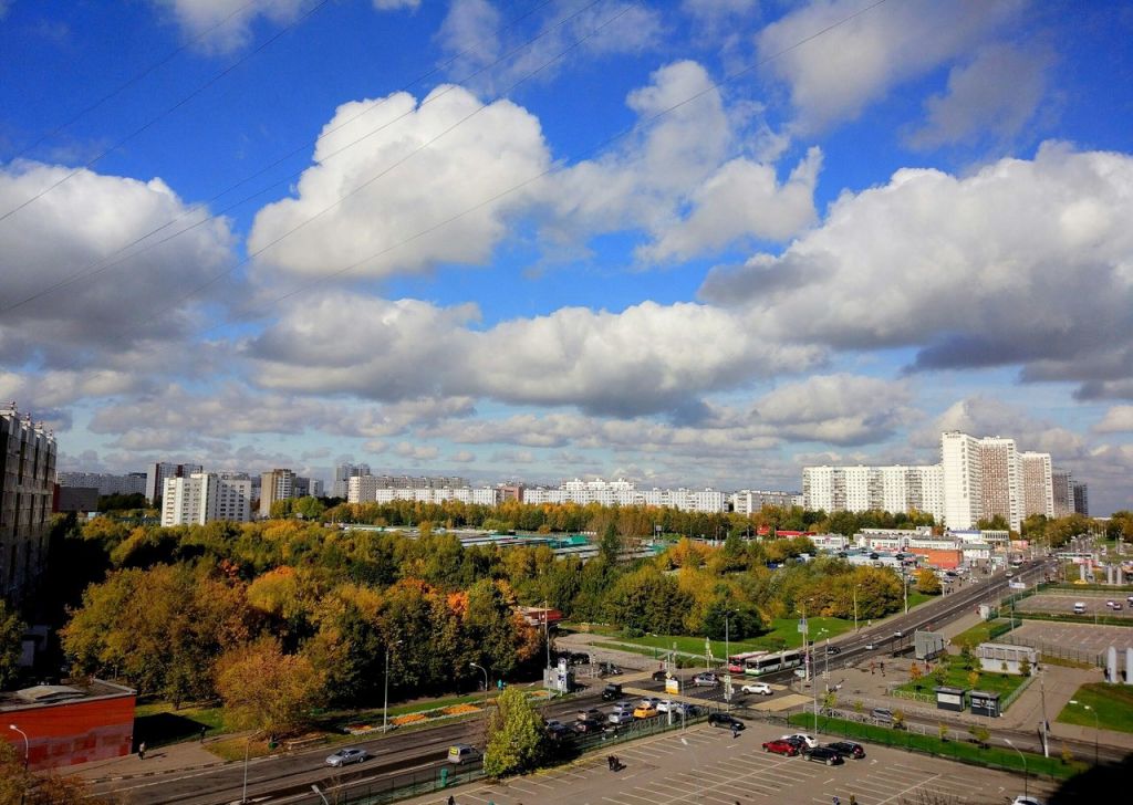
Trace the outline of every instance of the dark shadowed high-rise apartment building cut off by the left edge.
<path fill-rule="evenodd" d="M 54 437 L 16 403 L 0 410 L 0 596 L 12 601 L 46 565 L 54 485 Z"/>

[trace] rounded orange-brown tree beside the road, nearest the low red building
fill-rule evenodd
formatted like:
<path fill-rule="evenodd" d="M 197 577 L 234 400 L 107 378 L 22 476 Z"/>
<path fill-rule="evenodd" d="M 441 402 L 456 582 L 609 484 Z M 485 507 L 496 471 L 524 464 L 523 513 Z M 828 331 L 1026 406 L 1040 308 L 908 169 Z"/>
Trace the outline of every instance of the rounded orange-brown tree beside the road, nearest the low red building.
<path fill-rule="evenodd" d="M 324 676 L 306 657 L 284 654 L 278 640 L 262 637 L 216 661 L 216 690 L 231 727 L 287 735 L 323 700 Z"/>

